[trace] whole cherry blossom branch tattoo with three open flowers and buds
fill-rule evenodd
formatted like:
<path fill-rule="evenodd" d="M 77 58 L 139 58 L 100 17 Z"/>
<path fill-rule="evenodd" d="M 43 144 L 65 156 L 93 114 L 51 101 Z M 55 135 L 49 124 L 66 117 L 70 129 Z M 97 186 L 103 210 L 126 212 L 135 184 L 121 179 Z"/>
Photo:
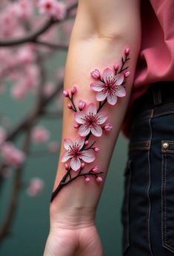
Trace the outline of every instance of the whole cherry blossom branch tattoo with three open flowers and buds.
<path fill-rule="evenodd" d="M 74 140 L 64 138 L 64 154 L 61 162 L 64 163 L 66 173 L 53 191 L 51 202 L 61 188 L 79 177 L 82 177 L 85 183 L 89 183 L 91 177 L 96 179 L 98 184 L 103 182 L 103 172 L 98 166 L 87 167 L 96 159 L 96 154 L 99 152 L 99 148 L 95 146 L 96 141 L 90 144 L 89 138 L 90 136 L 101 137 L 103 132 L 112 130 L 112 124 L 106 123 L 107 114 L 101 111 L 101 108 L 106 103 L 114 106 L 118 97 L 126 96 L 125 83 L 130 75 L 129 66 L 126 66 L 128 60 L 130 60 L 130 48 L 125 48 L 124 57 L 121 57 L 121 67 L 115 63 L 113 69 L 104 68 L 102 75 L 98 69 L 90 73 L 94 80 L 90 88 L 96 92 L 98 106 L 94 103 L 87 104 L 84 100 L 79 100 L 76 106 L 73 100 L 77 93 L 76 86 L 73 86 L 70 92 L 64 90 L 64 97 L 70 100 L 67 107 L 74 112 L 76 121 L 74 128 L 77 129 L 78 135 Z"/>

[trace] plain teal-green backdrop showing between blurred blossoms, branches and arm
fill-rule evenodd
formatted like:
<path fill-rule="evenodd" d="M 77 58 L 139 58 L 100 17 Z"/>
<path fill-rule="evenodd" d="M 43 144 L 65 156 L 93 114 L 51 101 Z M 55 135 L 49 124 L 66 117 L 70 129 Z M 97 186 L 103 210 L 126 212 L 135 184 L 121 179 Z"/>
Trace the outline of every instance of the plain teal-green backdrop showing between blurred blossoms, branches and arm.
<path fill-rule="evenodd" d="M 47 63 L 50 77 L 54 68 L 64 65 L 66 54 L 55 55 L 51 63 Z M 12 124 L 19 121 L 33 104 L 33 97 L 16 102 L 9 96 L 10 87 L 7 86 L 5 95 L 0 96 L 1 113 L 10 118 Z M 50 129 L 51 139 L 60 141 L 61 120 L 39 120 Z M 16 141 L 20 144 L 21 138 Z M 41 147 L 45 147 L 43 144 Z M 37 148 L 38 149 L 38 148 Z M 36 150 L 33 146 L 32 150 Z M 96 225 L 104 247 L 104 255 L 121 255 L 121 203 L 124 188 L 124 167 L 127 158 L 127 141 L 120 135 L 116 144 L 104 191 L 98 205 Z M 20 192 L 18 208 L 10 228 L 10 234 L 0 244 L 1 256 L 39 256 L 43 255 L 44 245 L 49 232 L 49 204 L 50 194 L 53 190 L 53 182 L 56 176 L 58 153 L 55 155 L 30 156 L 27 159 L 23 173 L 23 189 Z M 27 196 L 26 185 L 33 176 L 44 179 L 44 191 L 36 197 Z M 13 178 L 13 173 L 12 177 Z M 7 211 L 7 202 L 12 187 L 12 179 L 5 179 L 0 194 L 0 224 Z"/>

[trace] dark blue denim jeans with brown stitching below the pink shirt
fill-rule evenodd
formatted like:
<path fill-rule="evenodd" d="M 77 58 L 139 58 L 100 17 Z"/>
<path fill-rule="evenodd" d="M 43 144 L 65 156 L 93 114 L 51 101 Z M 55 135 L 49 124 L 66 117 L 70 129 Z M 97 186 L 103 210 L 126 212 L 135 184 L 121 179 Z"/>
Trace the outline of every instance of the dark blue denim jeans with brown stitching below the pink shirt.
<path fill-rule="evenodd" d="M 122 255 L 174 256 L 174 103 L 135 117 L 124 178 Z"/>

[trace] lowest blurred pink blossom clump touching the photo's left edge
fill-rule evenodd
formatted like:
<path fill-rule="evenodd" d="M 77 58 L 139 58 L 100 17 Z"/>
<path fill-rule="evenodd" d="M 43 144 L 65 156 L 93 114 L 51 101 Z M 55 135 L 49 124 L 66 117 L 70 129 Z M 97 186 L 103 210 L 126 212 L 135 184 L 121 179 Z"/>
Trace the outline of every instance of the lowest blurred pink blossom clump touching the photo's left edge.
<path fill-rule="evenodd" d="M 24 162 L 25 154 L 12 143 L 6 142 L 1 146 L 1 156 L 7 164 L 18 166 Z"/>

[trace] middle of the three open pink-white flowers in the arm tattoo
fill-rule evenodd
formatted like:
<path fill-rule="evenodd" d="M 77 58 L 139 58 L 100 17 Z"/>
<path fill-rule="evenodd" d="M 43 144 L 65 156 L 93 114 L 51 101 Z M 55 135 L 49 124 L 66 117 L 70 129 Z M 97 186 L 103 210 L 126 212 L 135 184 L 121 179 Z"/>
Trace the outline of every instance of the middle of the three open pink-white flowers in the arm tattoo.
<path fill-rule="evenodd" d="M 94 103 L 87 106 L 86 112 L 76 112 L 74 117 L 80 125 L 78 128 L 79 135 L 87 136 L 90 132 L 96 137 L 102 135 L 101 124 L 107 121 L 107 115 L 102 112 L 98 113 L 97 106 Z"/>

